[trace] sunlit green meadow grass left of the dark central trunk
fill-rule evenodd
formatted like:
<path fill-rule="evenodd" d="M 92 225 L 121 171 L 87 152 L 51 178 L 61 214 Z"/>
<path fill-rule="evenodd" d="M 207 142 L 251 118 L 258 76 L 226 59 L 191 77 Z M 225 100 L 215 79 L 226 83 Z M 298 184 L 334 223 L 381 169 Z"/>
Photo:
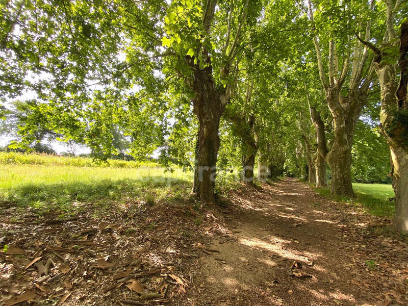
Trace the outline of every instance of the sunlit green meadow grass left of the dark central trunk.
<path fill-rule="evenodd" d="M 81 203 L 107 206 L 164 197 L 185 197 L 192 173 L 160 167 L 113 168 L 0 164 L 0 207 L 32 208 L 37 213 L 74 213 Z"/>

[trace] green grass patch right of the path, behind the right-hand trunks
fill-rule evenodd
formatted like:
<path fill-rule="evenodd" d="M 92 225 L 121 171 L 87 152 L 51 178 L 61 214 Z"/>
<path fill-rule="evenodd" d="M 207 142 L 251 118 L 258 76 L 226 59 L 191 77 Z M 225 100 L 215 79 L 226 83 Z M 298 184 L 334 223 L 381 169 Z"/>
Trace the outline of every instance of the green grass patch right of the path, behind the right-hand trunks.
<path fill-rule="evenodd" d="M 315 190 L 323 196 L 330 196 L 330 188 L 315 188 Z M 351 200 L 345 197 L 330 197 L 336 201 L 361 205 L 374 216 L 392 217 L 394 215 L 395 202 L 389 200 L 394 197 L 391 185 L 354 183 L 353 190 L 356 197 Z"/>

